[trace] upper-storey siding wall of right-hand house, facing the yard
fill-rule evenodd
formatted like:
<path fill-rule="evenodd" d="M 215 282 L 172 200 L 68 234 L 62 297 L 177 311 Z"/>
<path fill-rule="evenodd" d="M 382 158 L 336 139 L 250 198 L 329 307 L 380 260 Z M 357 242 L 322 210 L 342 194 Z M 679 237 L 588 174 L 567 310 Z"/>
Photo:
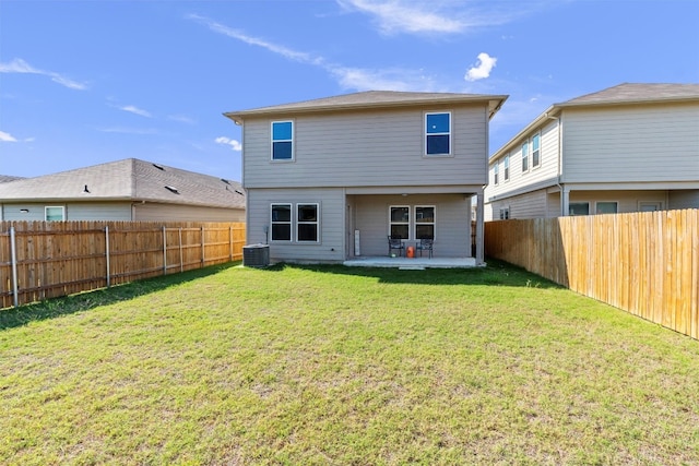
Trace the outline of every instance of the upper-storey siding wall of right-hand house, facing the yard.
<path fill-rule="evenodd" d="M 565 182 L 699 179 L 696 103 L 564 113 Z"/>

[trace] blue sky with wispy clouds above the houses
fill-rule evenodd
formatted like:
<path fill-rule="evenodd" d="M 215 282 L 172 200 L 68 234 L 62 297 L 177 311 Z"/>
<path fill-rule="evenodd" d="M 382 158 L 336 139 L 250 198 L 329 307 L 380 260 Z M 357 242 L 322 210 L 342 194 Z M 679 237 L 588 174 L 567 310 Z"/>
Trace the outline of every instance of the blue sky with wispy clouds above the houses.
<path fill-rule="evenodd" d="M 368 89 L 554 103 L 699 82 L 696 0 L 0 0 L 0 175 L 128 157 L 240 180 L 224 111 Z"/>

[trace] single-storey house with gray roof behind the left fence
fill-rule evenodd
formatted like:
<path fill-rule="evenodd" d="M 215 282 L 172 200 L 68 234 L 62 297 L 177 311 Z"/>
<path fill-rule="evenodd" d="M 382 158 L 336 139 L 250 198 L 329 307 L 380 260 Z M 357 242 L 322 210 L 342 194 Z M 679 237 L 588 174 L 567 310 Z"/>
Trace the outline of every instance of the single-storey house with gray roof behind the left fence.
<path fill-rule="evenodd" d="M 0 220 L 245 222 L 239 182 L 128 158 L 0 183 Z"/>

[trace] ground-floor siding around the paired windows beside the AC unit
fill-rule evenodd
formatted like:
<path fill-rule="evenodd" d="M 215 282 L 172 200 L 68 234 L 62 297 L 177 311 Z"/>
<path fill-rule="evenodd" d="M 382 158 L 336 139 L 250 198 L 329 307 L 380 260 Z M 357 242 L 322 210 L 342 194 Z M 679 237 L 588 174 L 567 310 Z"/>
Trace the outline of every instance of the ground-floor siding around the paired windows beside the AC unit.
<path fill-rule="evenodd" d="M 319 242 L 272 241 L 265 237 L 270 228 L 271 204 L 317 203 L 320 210 Z M 342 262 L 344 260 L 344 192 L 342 189 L 256 189 L 248 192 L 248 244 L 270 244 L 270 261 L 274 262 Z M 294 215 L 293 215 L 294 216 Z M 295 222 L 292 223 L 294 236 Z"/>

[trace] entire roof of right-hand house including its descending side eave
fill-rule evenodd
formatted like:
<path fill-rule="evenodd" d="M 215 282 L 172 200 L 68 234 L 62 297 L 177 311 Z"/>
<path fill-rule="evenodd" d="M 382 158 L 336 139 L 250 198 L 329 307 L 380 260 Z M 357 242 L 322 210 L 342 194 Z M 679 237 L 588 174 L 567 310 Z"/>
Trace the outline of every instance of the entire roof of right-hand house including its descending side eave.
<path fill-rule="evenodd" d="M 541 126 L 548 117 L 555 117 L 566 108 L 596 107 L 615 105 L 668 104 L 680 101 L 699 101 L 699 84 L 639 84 L 623 83 L 606 89 L 585 94 L 560 104 L 554 104 L 531 123 L 524 127 L 512 139 L 498 148 L 490 157 L 490 163 L 502 157 L 519 140 Z"/>

